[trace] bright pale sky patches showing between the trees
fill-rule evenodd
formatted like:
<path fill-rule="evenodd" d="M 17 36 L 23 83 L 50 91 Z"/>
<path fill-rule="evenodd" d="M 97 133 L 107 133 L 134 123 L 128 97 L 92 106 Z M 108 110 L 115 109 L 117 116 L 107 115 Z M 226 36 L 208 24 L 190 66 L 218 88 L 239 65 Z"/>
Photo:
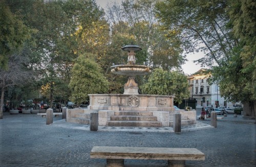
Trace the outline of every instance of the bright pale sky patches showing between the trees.
<path fill-rule="evenodd" d="M 121 3 L 122 0 L 95 0 L 95 2 L 98 4 L 98 6 L 105 8 L 108 3 Z M 193 61 L 198 60 L 203 57 L 203 53 L 189 53 L 186 56 L 186 59 L 188 60 L 184 65 L 182 65 L 183 72 L 185 74 L 193 74 L 200 70 L 202 67 L 200 65 L 196 65 L 196 63 L 193 63 Z"/>

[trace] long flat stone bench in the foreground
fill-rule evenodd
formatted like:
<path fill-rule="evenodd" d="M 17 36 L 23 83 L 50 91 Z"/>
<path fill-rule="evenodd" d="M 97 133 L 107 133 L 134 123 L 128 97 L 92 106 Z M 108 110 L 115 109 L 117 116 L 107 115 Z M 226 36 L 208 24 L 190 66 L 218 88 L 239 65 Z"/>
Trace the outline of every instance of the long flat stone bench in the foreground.
<path fill-rule="evenodd" d="M 205 155 L 195 148 L 94 146 L 91 158 L 106 159 L 106 166 L 124 166 L 124 159 L 168 160 L 168 166 L 185 166 L 186 160 L 204 160 Z"/>

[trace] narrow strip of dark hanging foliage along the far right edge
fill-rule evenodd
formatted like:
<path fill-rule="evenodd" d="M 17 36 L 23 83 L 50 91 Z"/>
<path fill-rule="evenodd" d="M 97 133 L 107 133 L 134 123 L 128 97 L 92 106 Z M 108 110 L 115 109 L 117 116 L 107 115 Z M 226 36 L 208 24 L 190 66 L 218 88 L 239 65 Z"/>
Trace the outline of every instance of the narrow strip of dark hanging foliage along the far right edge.
<path fill-rule="evenodd" d="M 256 99 L 256 4 L 254 1 L 230 1 L 228 8 L 233 33 L 241 47 L 240 70 L 245 75 L 250 99 Z M 240 77 L 243 77 L 240 76 Z M 244 80 L 245 81 L 245 80 Z M 256 105 L 256 104 L 255 104 Z"/>

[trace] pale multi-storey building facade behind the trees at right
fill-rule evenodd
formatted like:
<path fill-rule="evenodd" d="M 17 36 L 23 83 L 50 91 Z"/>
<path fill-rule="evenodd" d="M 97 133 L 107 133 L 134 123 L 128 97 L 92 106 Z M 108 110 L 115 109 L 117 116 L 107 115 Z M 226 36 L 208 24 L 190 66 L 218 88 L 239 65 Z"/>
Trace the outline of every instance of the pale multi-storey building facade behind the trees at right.
<path fill-rule="evenodd" d="M 219 86 L 215 83 L 209 85 L 210 74 L 205 74 L 207 69 L 200 69 L 194 75 L 187 76 L 190 98 L 197 100 L 196 107 L 229 107 L 233 103 L 221 97 Z"/>

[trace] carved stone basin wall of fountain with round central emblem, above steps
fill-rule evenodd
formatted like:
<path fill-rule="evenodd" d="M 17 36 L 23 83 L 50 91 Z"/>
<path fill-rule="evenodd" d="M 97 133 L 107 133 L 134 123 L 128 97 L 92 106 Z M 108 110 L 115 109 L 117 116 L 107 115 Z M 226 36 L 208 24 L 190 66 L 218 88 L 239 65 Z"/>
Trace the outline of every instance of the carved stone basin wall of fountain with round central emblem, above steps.
<path fill-rule="evenodd" d="M 175 110 L 174 96 L 139 94 L 90 94 L 88 109 L 170 111 Z"/>

